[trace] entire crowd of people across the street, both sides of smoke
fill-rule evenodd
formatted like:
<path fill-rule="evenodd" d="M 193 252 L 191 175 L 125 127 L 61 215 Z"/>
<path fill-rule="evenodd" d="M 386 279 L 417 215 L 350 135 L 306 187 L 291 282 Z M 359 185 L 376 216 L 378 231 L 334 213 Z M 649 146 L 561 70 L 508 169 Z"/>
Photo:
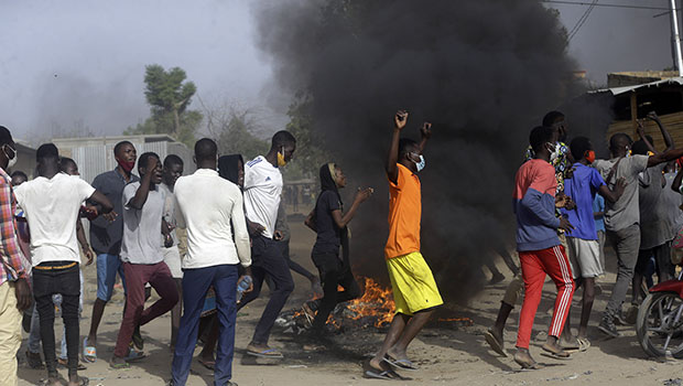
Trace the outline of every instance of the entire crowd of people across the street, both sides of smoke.
<path fill-rule="evenodd" d="M 652 272 L 660 281 L 674 276 L 680 254 L 672 250 L 683 244 L 677 207 L 683 171 L 675 174 L 674 161 L 683 157 L 683 149 L 675 149 L 657 115 L 648 118 L 659 125 L 666 149 L 658 152 L 641 125 L 638 141 L 625 133 L 610 138 L 609 160 L 596 160 L 588 138 L 573 138 L 567 146 L 567 122 L 561 112 L 551 111 L 542 126 L 531 130 L 513 192 L 521 269 L 507 251 L 501 253 L 514 278 L 486 334 L 490 346 L 507 355 L 502 332 L 524 293 L 514 354 L 523 368 L 540 367 L 529 343 L 546 276 L 554 281 L 557 296 L 542 350 L 556 358 L 567 358 L 590 345 L 587 329 L 595 297 L 601 290 L 606 242 L 615 248 L 618 271 L 598 325 L 605 334 L 618 336 L 615 324 L 627 322 L 621 308 L 629 285 L 637 304 L 643 297 L 643 282 L 651 285 Z M 390 200 L 384 258 L 395 313 L 382 345 L 364 363 L 362 374 L 370 378 L 401 379 L 397 371 L 418 369 L 408 346 L 443 304 L 420 246 L 419 173 L 425 167 L 423 151 L 432 129 L 425 122 L 416 142 L 401 138 L 406 122 L 408 112 L 398 111 L 386 160 Z M 29 180 L 21 171 L 8 175 L 17 162 L 17 150 L 10 131 L 0 127 L 0 368 L 6 374 L 0 384 L 17 384 L 17 354 L 24 325 L 28 364 L 47 371 L 48 386 L 87 385 L 88 378 L 78 375 L 85 367 L 79 358 L 93 363 L 101 357 L 98 328 L 117 277 L 126 303 L 113 354 L 108 358 L 115 369 L 144 358 L 141 326 L 171 312 L 174 355 L 170 384 L 186 384 L 197 340 L 203 336 L 198 361 L 214 371 L 216 385 L 235 385 L 231 365 L 237 311 L 259 298 L 263 282 L 270 288 L 269 300 L 246 353 L 283 357 L 269 345 L 269 339 L 294 289 L 291 270 L 306 277 L 321 296 L 315 311 L 307 308 L 313 313 L 307 337 L 324 340 L 336 304 L 361 294 L 351 271 L 347 226 L 373 190 L 358 189 L 345 208 L 339 191 L 347 180 L 342 167 L 321 167 L 321 192 L 305 219 L 316 233 L 311 257 L 318 275 L 307 271 L 290 258 L 290 232 L 281 200 L 281 168 L 295 150 L 296 139 L 279 131 L 265 156 L 245 162 L 239 154 L 219 157 L 216 142 L 203 138 L 194 146 L 196 171 L 183 175 L 180 157 L 170 154 L 163 161 L 153 152 L 138 157 L 134 146 L 122 141 L 113 149 L 117 167 L 89 184 L 78 176 L 74 160 L 45 143 L 36 151 L 36 176 Z M 89 237 L 84 219 L 89 221 Z M 94 261 L 97 299 L 89 332 L 80 341 L 82 264 Z M 499 280 L 501 274 L 495 265 L 487 266 Z M 573 336 L 570 310 L 579 287 L 582 311 L 578 334 Z M 158 297 L 148 304 L 151 289 Z M 58 357 L 55 307 L 64 321 Z M 68 379 L 59 375 L 57 365 L 67 368 Z"/>

